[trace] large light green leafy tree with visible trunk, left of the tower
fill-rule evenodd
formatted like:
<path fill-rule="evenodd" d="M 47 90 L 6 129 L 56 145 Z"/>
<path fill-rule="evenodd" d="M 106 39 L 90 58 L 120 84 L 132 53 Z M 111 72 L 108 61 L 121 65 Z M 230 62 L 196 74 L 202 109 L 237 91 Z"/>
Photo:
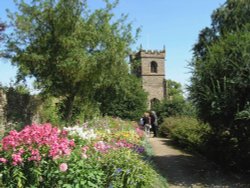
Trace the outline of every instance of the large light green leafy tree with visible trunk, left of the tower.
<path fill-rule="evenodd" d="M 118 1 L 91 11 L 84 0 L 16 1 L 8 50 L 18 79 L 33 76 L 43 93 L 63 100 L 64 118 L 72 117 L 77 97 L 91 98 L 124 67 L 134 42 L 126 15 L 115 19 Z"/>

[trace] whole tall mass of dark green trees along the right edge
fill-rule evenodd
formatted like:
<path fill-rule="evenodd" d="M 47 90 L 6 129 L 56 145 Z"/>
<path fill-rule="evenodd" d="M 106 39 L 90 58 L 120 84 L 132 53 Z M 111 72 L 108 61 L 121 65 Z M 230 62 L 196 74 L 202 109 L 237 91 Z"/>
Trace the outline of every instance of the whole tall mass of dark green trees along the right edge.
<path fill-rule="evenodd" d="M 250 7 L 228 0 L 199 36 L 191 63 L 190 96 L 213 130 L 210 149 L 226 165 L 250 168 Z M 206 31 L 206 32 L 205 32 Z"/>

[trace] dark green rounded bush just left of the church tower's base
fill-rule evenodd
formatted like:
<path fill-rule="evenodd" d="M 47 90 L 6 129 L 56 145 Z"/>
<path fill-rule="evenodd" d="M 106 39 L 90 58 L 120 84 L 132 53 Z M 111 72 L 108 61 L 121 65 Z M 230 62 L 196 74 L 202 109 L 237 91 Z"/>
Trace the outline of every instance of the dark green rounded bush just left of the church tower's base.
<path fill-rule="evenodd" d="M 140 80 L 132 75 L 118 78 L 115 83 L 99 88 L 95 95 L 103 115 L 138 119 L 147 108 L 147 95 Z"/>

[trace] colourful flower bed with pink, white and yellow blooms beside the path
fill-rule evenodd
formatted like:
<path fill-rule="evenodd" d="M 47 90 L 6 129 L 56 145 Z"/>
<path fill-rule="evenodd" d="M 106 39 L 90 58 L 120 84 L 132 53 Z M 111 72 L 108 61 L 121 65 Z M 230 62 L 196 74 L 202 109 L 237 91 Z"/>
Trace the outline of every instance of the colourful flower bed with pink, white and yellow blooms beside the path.
<path fill-rule="evenodd" d="M 58 129 L 50 124 L 12 130 L 1 140 L 5 187 L 154 187 L 143 132 L 105 118 Z"/>

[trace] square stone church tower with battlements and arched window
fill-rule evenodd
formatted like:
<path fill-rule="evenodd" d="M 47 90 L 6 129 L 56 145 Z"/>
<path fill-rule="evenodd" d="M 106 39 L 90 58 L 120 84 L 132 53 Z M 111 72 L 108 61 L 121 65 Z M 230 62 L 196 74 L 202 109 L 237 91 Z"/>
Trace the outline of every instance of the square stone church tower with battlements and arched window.
<path fill-rule="evenodd" d="M 131 72 L 142 78 L 143 89 L 148 92 L 148 106 L 166 97 L 165 48 L 162 51 L 141 49 L 130 55 Z"/>

